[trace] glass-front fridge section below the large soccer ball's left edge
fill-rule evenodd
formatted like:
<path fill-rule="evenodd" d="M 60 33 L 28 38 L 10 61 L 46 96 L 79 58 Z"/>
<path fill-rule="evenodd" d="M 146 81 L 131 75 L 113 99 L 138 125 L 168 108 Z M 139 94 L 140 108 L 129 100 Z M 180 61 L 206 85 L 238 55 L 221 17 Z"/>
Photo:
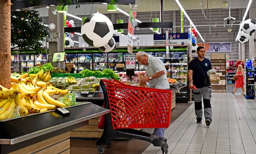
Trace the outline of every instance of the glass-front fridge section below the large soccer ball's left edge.
<path fill-rule="evenodd" d="M 78 54 L 78 73 L 84 69 L 93 70 L 93 54 Z"/>

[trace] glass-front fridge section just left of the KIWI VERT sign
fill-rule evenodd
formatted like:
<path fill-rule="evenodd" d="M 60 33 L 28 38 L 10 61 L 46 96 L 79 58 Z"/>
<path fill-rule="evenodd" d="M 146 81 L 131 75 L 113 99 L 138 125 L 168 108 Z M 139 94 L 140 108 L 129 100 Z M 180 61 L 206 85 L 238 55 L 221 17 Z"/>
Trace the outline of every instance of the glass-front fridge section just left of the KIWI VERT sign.
<path fill-rule="evenodd" d="M 116 70 L 116 64 L 123 64 L 123 53 L 108 53 L 108 68 Z"/>

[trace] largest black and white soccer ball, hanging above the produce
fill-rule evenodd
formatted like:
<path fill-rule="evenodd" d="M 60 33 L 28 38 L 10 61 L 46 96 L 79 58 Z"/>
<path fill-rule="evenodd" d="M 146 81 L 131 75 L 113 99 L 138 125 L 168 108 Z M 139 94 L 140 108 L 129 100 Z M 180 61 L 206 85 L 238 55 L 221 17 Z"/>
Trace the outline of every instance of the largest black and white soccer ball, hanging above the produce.
<path fill-rule="evenodd" d="M 90 15 L 84 20 L 81 27 L 81 34 L 84 41 L 95 47 L 101 47 L 108 44 L 113 37 L 113 23 L 108 17 L 100 13 Z"/>

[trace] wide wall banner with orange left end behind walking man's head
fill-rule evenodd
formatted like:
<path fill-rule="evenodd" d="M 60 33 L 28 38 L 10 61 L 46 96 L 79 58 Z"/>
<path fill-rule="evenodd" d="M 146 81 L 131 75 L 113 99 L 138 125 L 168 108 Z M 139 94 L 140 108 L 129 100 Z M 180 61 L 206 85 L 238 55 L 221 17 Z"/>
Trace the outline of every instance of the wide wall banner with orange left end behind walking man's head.
<path fill-rule="evenodd" d="M 198 44 L 204 46 L 206 52 L 231 52 L 231 42 Z"/>

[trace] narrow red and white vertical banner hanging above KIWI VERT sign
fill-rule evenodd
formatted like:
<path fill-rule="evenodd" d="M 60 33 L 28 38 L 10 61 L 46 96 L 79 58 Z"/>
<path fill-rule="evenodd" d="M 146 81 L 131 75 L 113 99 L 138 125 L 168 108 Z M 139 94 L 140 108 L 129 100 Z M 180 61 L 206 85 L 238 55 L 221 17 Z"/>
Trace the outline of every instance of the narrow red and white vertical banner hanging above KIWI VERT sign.
<path fill-rule="evenodd" d="M 132 10 L 132 7 L 130 8 L 129 11 L 129 20 L 128 20 L 128 52 L 132 53 L 133 49 L 133 40 L 132 38 L 134 37 L 134 30 L 135 27 L 132 25 L 132 23 L 136 22 L 136 17 L 137 17 L 137 12 Z"/>

